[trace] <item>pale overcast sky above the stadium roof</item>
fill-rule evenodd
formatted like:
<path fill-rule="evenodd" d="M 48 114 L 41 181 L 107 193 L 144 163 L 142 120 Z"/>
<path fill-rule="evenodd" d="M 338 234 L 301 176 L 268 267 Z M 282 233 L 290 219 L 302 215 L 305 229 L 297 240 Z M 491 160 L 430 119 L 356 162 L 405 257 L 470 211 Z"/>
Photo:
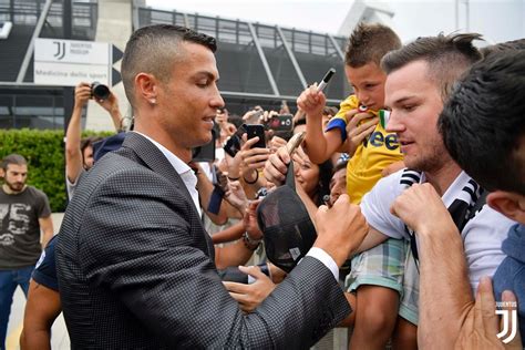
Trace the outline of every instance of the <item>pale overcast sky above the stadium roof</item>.
<path fill-rule="evenodd" d="M 395 13 L 390 25 L 403 42 L 420 35 L 435 35 L 441 31 L 450 33 L 455 30 L 480 32 L 487 39 L 487 44 L 525 37 L 525 0 L 457 1 L 459 28 L 455 23 L 455 0 L 367 0 L 371 4 L 387 3 Z M 181 12 L 198 12 L 330 34 L 338 33 L 352 2 L 352 0 L 146 0 L 146 4 L 155 9 L 176 9 Z"/>

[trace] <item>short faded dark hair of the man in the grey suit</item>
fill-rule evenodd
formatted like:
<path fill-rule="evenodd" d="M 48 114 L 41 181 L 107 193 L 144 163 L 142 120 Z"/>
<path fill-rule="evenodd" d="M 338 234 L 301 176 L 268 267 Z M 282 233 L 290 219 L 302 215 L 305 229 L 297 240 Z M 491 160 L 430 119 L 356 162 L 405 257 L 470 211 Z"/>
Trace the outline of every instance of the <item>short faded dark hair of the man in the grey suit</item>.
<path fill-rule="evenodd" d="M 214 38 L 172 24 L 155 24 L 136 30 L 126 43 L 121 74 L 127 100 L 134 105 L 134 80 L 141 72 L 155 75 L 166 83 L 172 76 L 173 63 L 184 53 L 179 43 L 188 41 L 204 45 L 215 52 Z"/>

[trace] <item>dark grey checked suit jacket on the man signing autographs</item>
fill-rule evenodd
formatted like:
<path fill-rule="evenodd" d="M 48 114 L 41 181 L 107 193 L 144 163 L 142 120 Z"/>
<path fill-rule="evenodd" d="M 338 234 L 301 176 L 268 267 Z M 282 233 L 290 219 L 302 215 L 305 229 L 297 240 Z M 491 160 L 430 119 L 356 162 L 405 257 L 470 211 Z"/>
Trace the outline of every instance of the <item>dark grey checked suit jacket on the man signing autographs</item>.
<path fill-rule="evenodd" d="M 56 246 L 73 348 L 308 348 L 350 311 L 329 269 L 306 257 L 244 315 L 183 181 L 140 134 L 76 191 Z"/>

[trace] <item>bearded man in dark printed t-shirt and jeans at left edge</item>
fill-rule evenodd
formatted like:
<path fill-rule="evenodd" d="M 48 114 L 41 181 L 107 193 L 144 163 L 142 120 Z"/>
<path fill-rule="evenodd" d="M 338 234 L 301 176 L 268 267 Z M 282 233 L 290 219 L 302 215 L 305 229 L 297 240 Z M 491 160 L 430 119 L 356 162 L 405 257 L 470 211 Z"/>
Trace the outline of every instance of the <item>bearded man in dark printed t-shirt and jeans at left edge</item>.
<path fill-rule="evenodd" d="M 45 194 L 25 184 L 28 163 L 23 156 L 6 156 L 0 176 L 3 177 L 0 188 L 0 349 L 3 349 L 14 290 L 20 286 L 28 295 L 34 264 L 42 246 L 53 236 L 53 223 Z"/>

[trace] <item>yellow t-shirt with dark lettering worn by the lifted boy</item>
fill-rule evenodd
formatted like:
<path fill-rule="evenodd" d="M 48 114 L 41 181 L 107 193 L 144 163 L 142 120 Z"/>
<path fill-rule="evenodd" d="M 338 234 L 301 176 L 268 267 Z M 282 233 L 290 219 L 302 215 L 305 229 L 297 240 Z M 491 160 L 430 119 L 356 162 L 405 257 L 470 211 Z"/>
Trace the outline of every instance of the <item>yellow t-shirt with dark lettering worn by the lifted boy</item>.
<path fill-rule="evenodd" d="M 356 95 L 350 95 L 342 101 L 338 114 L 330 120 L 326 131 L 338 128 L 341 131 L 342 142 L 347 140 L 346 113 L 359 107 Z M 377 111 L 369 111 L 378 115 Z M 356 150 L 347 166 L 347 192 L 353 204 L 361 203 L 367 192 L 372 189 L 381 178 L 381 171 L 392 163 L 402 161 L 403 155 L 395 133 L 387 133 L 381 123 Z"/>

